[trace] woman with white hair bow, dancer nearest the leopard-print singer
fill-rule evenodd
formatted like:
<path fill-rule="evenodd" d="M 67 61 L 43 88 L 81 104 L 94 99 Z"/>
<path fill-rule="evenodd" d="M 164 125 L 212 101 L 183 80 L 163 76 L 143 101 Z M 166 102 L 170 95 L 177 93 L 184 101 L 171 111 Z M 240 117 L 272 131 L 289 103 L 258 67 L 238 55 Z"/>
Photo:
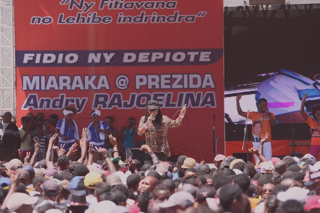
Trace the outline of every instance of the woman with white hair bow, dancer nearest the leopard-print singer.
<path fill-rule="evenodd" d="M 93 120 L 87 127 L 88 139 L 87 141 L 93 142 L 93 147 L 105 148 L 105 137 L 106 134 L 112 134 L 112 131 L 107 123 L 100 120 L 101 112 L 99 110 L 94 110 L 91 112 L 90 116 Z M 100 160 L 99 152 L 95 150 L 93 155 L 93 160 Z"/>

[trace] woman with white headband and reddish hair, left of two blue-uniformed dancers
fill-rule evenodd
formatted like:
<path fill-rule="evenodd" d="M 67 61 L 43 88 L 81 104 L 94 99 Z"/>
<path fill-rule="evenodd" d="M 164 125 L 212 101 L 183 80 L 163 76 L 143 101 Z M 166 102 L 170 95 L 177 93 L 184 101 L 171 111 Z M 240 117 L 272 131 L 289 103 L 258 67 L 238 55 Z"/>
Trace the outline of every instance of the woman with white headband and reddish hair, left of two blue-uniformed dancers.
<path fill-rule="evenodd" d="M 62 113 L 65 118 L 59 120 L 56 127 L 56 133 L 59 136 L 58 147 L 65 144 L 64 148 L 68 152 L 71 146 L 76 143 L 75 139 L 79 140 L 78 126 L 76 121 L 72 119 L 77 110 L 73 106 L 66 106 L 62 109 Z"/>

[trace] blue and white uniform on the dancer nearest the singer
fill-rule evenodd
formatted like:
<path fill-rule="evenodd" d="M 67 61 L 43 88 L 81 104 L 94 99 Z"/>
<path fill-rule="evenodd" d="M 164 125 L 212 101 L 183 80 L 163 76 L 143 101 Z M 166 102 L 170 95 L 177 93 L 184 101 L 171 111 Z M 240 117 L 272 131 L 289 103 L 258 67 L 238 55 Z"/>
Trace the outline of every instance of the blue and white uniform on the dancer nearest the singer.
<path fill-rule="evenodd" d="M 101 148 L 105 148 L 104 146 L 104 140 L 106 138 L 106 134 L 102 133 L 102 132 L 98 132 L 97 129 L 101 129 L 101 130 L 108 130 L 110 128 L 110 126 L 108 126 L 108 124 L 106 124 L 103 121 L 99 122 L 99 126 L 97 128 L 94 128 L 93 125 L 94 122 L 90 123 L 87 127 L 87 132 L 88 134 L 88 139 L 87 141 L 91 141 L 93 142 L 93 146 L 95 147 L 101 147 Z M 97 150 L 95 150 L 95 152 L 98 152 Z"/>

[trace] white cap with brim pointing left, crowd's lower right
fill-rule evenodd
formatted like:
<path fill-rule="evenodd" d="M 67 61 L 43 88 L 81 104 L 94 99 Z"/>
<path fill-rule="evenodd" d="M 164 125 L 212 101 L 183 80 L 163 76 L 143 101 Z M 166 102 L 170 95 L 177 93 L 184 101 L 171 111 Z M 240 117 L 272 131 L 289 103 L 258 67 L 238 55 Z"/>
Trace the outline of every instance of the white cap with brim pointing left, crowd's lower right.
<path fill-rule="evenodd" d="M 279 192 L 277 194 L 277 199 L 279 201 L 285 202 L 287 200 L 296 200 L 300 203 L 304 203 L 307 200 L 309 190 L 303 189 L 298 186 L 293 186 L 285 192 Z"/>

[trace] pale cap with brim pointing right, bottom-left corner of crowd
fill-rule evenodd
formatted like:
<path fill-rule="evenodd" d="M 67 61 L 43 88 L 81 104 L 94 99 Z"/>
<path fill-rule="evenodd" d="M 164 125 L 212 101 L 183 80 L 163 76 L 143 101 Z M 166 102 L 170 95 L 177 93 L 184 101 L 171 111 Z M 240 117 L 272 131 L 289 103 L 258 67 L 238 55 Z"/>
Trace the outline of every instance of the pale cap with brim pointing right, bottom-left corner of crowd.
<path fill-rule="evenodd" d="M 19 209 L 22 205 L 32 205 L 38 201 L 38 197 L 30 197 L 28 194 L 16 192 L 8 200 L 7 208 L 11 211 Z"/>

